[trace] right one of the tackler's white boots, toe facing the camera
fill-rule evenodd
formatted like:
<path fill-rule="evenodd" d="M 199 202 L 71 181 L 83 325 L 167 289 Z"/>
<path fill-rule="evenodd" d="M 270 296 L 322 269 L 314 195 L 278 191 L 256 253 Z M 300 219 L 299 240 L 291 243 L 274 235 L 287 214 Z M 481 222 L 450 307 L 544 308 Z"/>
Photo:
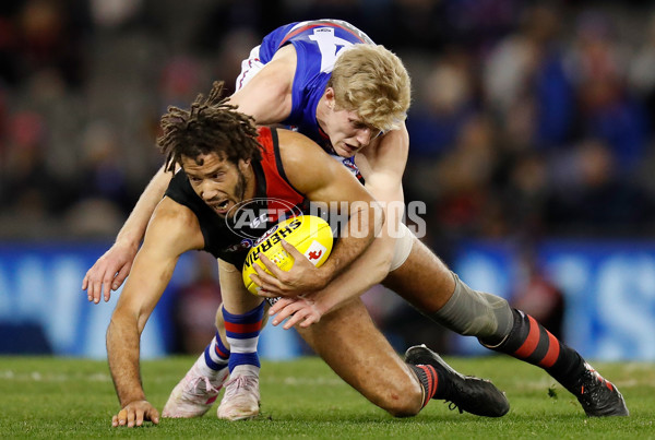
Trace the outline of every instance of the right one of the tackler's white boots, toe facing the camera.
<path fill-rule="evenodd" d="M 225 394 L 218 406 L 218 418 L 245 420 L 257 417 L 260 407 L 259 368 L 238 366 L 225 384 Z"/>

